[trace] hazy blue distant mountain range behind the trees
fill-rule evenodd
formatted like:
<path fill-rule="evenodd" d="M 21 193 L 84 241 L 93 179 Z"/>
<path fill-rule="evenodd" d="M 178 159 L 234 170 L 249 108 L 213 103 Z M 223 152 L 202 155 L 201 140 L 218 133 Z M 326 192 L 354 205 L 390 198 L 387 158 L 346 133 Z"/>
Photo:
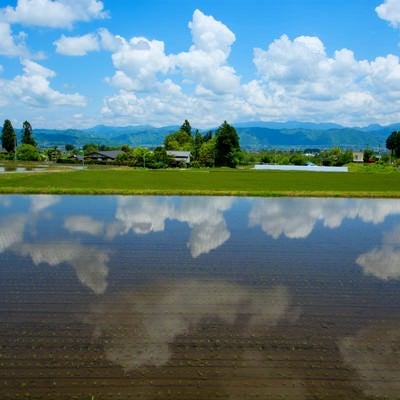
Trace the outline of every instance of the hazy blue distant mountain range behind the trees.
<path fill-rule="evenodd" d="M 389 134 L 400 128 L 399 124 L 389 126 L 344 127 L 332 123 L 307 122 L 242 122 L 233 124 L 245 149 L 277 147 L 318 147 L 334 146 L 363 149 L 384 148 Z M 126 126 L 111 127 L 99 125 L 89 129 L 34 129 L 33 134 L 41 147 L 64 146 L 85 143 L 155 147 L 164 142 L 167 134 L 179 126 Z M 214 130 L 214 129 L 212 129 Z M 202 130 L 205 133 L 208 130 Z"/>

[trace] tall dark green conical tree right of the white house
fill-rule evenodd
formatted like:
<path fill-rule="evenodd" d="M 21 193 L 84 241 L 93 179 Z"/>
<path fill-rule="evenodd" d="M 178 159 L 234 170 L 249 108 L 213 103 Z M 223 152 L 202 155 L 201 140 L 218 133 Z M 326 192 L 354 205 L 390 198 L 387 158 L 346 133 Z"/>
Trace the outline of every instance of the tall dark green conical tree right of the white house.
<path fill-rule="evenodd" d="M 235 168 L 239 162 L 240 144 L 236 129 L 226 121 L 217 129 L 215 165 Z"/>

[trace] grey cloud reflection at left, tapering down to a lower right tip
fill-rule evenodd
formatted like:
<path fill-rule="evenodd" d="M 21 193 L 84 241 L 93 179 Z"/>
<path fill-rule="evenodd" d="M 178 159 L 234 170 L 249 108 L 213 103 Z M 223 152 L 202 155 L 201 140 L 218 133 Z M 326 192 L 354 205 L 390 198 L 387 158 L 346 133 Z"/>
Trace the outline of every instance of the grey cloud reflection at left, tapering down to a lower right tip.
<path fill-rule="evenodd" d="M 104 293 L 107 288 L 108 255 L 95 247 L 78 243 L 21 244 L 18 252 L 30 256 L 35 265 L 56 266 L 63 262 L 72 265 L 80 282 L 96 294 Z"/>

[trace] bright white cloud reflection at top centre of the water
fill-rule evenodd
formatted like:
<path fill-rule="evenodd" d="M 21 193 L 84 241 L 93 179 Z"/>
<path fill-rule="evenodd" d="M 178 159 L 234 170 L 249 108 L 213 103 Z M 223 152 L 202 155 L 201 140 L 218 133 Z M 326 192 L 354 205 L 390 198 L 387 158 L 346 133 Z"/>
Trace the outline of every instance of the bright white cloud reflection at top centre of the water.
<path fill-rule="evenodd" d="M 224 212 L 233 198 L 185 198 L 177 206 L 168 198 L 119 197 L 116 222 L 107 227 L 107 236 L 161 232 L 165 221 L 177 220 L 192 229 L 188 247 L 193 257 L 221 246 L 230 237 Z"/>

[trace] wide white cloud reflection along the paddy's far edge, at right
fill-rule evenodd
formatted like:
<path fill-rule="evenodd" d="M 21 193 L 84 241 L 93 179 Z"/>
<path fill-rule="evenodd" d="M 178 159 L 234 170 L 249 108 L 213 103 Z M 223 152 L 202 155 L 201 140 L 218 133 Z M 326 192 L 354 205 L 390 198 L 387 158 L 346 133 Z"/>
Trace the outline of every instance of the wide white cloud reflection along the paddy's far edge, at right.
<path fill-rule="evenodd" d="M 306 238 L 317 221 L 333 229 L 346 218 L 377 224 L 392 214 L 400 214 L 398 200 L 257 199 L 249 221 L 275 239 L 281 235 L 299 239 Z"/>

